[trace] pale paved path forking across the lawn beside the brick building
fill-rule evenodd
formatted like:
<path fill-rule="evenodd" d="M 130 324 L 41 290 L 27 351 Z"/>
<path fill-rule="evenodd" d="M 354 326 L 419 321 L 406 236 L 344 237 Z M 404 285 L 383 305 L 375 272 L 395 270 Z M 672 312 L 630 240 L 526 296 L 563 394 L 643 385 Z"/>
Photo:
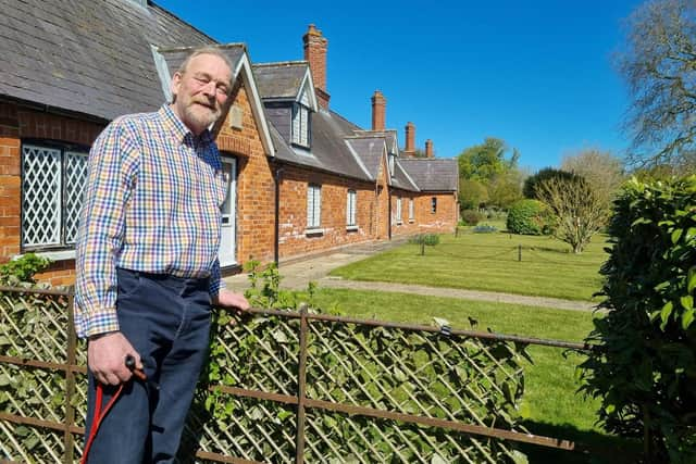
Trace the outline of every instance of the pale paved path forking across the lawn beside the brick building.
<path fill-rule="evenodd" d="M 499 303 L 524 304 L 530 306 L 555 308 L 571 311 L 591 311 L 596 303 L 589 301 L 561 300 L 545 297 L 525 297 L 522 294 L 498 293 L 494 291 L 462 290 L 443 287 L 426 287 L 412 284 L 391 284 L 383 281 L 346 280 L 340 277 L 330 277 L 328 273 L 343 265 L 365 259 L 380 251 L 403 243 L 403 240 L 391 242 L 358 244 L 350 248 L 325 253 L 306 260 L 281 262 L 279 271 L 283 276 L 282 288 L 293 290 L 307 289 L 310 281 L 315 281 L 320 287 L 347 288 L 352 290 L 391 291 L 399 293 L 415 293 L 431 297 L 460 298 L 464 300 L 494 301 Z M 226 277 L 225 281 L 232 289 L 240 290 L 249 287 L 247 274 Z"/>

